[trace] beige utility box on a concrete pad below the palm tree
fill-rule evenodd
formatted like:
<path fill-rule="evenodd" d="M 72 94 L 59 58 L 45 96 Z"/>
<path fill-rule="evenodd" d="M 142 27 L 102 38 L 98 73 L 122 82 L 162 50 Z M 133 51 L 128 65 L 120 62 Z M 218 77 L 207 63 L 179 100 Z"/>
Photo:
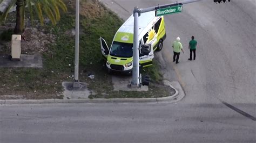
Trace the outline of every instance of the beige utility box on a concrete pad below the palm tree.
<path fill-rule="evenodd" d="M 11 37 L 11 59 L 21 59 L 21 35 L 12 35 Z"/>

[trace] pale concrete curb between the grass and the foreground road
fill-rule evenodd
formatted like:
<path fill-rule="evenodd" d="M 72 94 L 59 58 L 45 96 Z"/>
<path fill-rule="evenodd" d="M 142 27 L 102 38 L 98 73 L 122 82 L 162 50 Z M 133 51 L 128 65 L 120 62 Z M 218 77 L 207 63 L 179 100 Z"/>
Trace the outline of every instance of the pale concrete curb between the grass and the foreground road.
<path fill-rule="evenodd" d="M 171 88 L 172 85 L 169 84 Z M 159 103 L 167 102 L 174 103 L 177 102 L 177 97 L 179 96 L 179 91 L 175 88 L 175 94 L 168 97 L 158 97 L 158 98 L 95 98 L 95 99 L 8 99 L 0 100 L 0 105 L 10 105 L 10 104 L 50 104 L 50 103 Z"/>

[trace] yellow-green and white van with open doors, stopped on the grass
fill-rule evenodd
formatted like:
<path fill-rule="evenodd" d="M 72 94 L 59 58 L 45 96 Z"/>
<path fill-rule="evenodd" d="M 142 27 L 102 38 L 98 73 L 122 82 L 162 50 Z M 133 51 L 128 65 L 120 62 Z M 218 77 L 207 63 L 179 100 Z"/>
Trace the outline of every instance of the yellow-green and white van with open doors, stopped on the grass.
<path fill-rule="evenodd" d="M 102 54 L 106 59 L 109 73 L 112 70 L 130 73 L 133 56 L 133 15 L 118 29 L 114 35 L 111 48 L 100 37 Z M 139 17 L 139 47 L 150 44 L 149 55 L 139 54 L 140 67 L 152 65 L 154 51 L 161 51 L 166 38 L 164 17 L 156 17 L 154 11 L 142 13 Z"/>

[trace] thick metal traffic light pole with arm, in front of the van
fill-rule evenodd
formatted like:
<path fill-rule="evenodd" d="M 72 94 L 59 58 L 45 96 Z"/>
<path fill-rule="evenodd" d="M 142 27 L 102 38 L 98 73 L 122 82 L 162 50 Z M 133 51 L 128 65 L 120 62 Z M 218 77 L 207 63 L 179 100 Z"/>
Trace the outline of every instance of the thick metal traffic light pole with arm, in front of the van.
<path fill-rule="evenodd" d="M 139 77 L 139 16 L 141 13 L 149 12 L 149 11 L 156 11 L 157 9 L 160 8 L 167 8 L 170 6 L 175 6 L 177 4 L 188 4 L 188 3 L 193 3 L 193 2 L 199 2 L 203 0 L 188 0 L 184 1 L 182 3 L 170 3 L 170 4 L 164 4 L 164 5 L 158 5 L 158 6 L 153 6 L 150 8 L 145 8 L 145 9 L 139 9 L 138 7 L 135 7 L 133 10 L 133 16 L 134 16 L 134 26 L 133 26 L 133 68 L 132 68 L 132 82 L 131 82 L 131 87 L 132 88 L 138 88 L 140 83 L 140 77 Z M 215 1 L 223 1 L 223 0 L 213 0 Z M 229 2 L 229 1 L 228 1 Z"/>

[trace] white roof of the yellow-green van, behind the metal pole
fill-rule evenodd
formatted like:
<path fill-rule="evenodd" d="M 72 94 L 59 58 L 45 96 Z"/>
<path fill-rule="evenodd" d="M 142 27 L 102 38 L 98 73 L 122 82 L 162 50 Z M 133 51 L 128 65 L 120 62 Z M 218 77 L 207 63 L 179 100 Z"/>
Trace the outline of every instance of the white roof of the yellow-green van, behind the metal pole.
<path fill-rule="evenodd" d="M 142 32 L 144 28 L 146 28 L 146 26 L 149 25 L 154 18 L 156 18 L 154 11 L 142 13 L 139 16 L 139 33 Z M 125 33 L 133 34 L 133 25 L 134 25 L 133 20 L 134 20 L 134 17 L 133 15 L 131 15 L 126 20 L 126 22 L 119 28 L 117 32 L 125 32 Z"/>

